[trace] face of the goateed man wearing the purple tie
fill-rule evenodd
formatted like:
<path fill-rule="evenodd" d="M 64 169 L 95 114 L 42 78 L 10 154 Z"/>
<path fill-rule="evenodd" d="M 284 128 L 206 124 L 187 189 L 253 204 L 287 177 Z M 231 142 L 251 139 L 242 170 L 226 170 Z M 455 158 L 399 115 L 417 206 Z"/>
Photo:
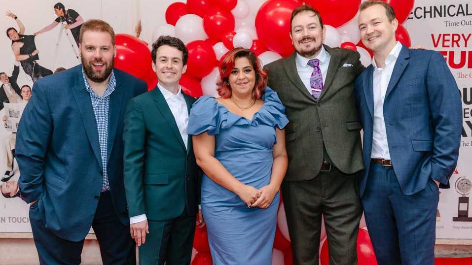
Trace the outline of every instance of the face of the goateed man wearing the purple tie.
<path fill-rule="evenodd" d="M 312 11 L 298 13 L 292 20 L 290 38 L 293 47 L 303 57 L 314 58 L 318 55 L 325 39 L 326 28 Z"/>

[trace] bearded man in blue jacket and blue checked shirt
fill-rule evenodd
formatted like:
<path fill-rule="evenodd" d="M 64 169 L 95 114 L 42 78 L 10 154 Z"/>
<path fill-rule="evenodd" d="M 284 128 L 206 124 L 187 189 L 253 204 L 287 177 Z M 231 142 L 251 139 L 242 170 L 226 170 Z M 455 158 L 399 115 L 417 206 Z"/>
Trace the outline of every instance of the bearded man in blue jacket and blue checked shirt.
<path fill-rule="evenodd" d="M 108 23 L 82 24 L 82 64 L 35 82 L 16 158 L 40 264 L 80 264 L 93 228 L 103 264 L 135 264 L 123 185 L 123 116 L 145 83 L 113 68 Z"/>

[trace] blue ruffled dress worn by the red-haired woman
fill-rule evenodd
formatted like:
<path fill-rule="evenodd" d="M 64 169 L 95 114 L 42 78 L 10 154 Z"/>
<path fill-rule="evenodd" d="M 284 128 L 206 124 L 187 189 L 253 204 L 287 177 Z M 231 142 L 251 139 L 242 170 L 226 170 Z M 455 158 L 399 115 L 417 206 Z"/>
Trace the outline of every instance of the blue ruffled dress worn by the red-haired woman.
<path fill-rule="evenodd" d="M 270 182 L 275 128 L 289 123 L 277 93 L 267 87 L 262 100 L 261 109 L 248 120 L 203 96 L 193 104 L 187 127 L 188 134 L 215 135 L 215 158 L 256 189 Z M 248 208 L 236 194 L 204 175 L 201 206 L 214 265 L 271 264 L 279 194 L 267 209 Z"/>

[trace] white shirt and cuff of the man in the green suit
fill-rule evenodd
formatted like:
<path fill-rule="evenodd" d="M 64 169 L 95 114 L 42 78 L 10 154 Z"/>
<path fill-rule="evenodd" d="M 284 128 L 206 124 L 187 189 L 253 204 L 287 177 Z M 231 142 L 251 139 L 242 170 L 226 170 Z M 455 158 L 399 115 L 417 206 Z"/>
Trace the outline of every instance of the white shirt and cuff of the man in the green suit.
<path fill-rule="evenodd" d="M 167 105 L 171 109 L 172 115 L 176 121 L 177 127 L 179 128 L 179 132 L 181 133 L 183 143 L 185 144 L 185 148 L 187 148 L 188 143 L 188 134 L 187 134 L 187 125 L 188 125 L 188 110 L 187 110 L 187 103 L 183 98 L 182 89 L 179 86 L 179 91 L 176 95 L 172 94 L 169 90 L 163 88 L 159 83 L 157 87 L 166 99 Z M 136 224 L 147 220 L 146 214 L 141 214 L 138 216 L 130 217 L 130 223 Z"/>

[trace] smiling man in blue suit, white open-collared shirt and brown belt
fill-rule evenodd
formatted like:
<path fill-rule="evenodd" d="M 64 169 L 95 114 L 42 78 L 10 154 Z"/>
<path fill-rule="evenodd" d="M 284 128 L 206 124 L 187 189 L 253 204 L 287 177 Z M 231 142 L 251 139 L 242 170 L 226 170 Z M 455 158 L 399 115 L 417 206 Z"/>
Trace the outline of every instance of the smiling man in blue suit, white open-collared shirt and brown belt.
<path fill-rule="evenodd" d="M 379 265 L 433 265 L 438 187 L 449 187 L 461 139 L 459 91 L 439 53 L 396 41 L 389 4 L 360 10 L 362 41 L 374 53 L 355 85 L 367 228 Z"/>

